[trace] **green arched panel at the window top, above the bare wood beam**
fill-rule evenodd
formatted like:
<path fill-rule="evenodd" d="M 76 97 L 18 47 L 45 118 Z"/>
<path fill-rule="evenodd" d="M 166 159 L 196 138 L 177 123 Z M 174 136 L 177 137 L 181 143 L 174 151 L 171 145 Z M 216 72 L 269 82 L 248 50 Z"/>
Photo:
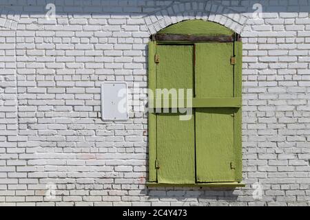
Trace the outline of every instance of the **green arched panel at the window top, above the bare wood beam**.
<path fill-rule="evenodd" d="M 170 25 L 158 32 L 159 34 L 190 34 L 190 35 L 231 35 L 232 30 L 211 21 L 187 20 Z"/>

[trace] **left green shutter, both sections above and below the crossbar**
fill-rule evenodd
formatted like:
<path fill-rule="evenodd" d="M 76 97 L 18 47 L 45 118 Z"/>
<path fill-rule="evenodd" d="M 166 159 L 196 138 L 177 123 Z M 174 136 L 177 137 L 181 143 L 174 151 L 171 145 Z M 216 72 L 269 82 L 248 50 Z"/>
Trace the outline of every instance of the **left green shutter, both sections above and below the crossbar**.
<path fill-rule="evenodd" d="M 158 45 L 156 54 L 156 88 L 193 88 L 193 46 Z M 170 109 L 171 110 L 171 109 Z M 157 159 L 158 183 L 189 184 L 195 182 L 194 117 L 179 120 L 180 113 L 158 113 Z"/>

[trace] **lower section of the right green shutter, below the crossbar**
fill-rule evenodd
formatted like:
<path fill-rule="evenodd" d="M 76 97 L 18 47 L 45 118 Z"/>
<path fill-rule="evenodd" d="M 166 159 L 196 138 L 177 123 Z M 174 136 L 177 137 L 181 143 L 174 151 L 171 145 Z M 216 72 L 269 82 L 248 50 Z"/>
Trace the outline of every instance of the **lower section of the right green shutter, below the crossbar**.
<path fill-rule="evenodd" d="M 198 182 L 234 181 L 234 108 L 196 109 Z"/>

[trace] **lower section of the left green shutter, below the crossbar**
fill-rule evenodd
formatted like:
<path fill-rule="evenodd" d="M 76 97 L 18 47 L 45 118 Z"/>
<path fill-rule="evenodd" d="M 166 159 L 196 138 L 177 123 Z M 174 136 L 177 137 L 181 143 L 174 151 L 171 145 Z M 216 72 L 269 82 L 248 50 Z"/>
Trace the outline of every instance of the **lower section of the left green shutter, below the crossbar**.
<path fill-rule="evenodd" d="M 179 113 L 157 115 L 158 183 L 195 182 L 194 117 L 179 120 Z"/>

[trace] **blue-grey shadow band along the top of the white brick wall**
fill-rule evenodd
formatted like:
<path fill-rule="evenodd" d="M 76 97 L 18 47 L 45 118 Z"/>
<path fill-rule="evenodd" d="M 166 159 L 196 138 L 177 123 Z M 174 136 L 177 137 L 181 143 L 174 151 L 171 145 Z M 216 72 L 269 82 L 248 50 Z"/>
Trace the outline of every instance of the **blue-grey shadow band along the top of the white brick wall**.
<path fill-rule="evenodd" d="M 14 5 L 10 1 L 0 1 L 0 27 L 16 30 L 17 23 L 21 15 L 32 15 L 34 17 L 54 17 L 54 14 L 65 17 L 75 17 L 81 15 L 116 15 L 128 17 L 130 15 L 139 15 L 147 17 L 154 15 L 169 15 L 169 8 L 179 8 L 186 12 L 187 4 L 194 4 L 196 11 L 203 12 L 206 5 L 212 5 L 209 8 L 209 15 L 223 14 L 229 16 L 229 13 L 240 13 L 246 17 L 264 17 L 264 13 L 273 12 L 307 12 L 310 11 L 310 4 L 307 1 L 256 1 L 256 0 L 236 0 L 236 1 L 205 1 L 205 0 L 178 0 L 178 1 L 68 1 L 60 4 L 58 1 L 38 1 L 37 4 L 27 3 L 25 5 Z M 180 11 L 181 12 L 181 11 Z M 188 12 L 192 14 L 193 10 Z M 178 12 L 176 16 L 180 15 Z M 6 21 L 5 21 L 5 20 Z"/>

